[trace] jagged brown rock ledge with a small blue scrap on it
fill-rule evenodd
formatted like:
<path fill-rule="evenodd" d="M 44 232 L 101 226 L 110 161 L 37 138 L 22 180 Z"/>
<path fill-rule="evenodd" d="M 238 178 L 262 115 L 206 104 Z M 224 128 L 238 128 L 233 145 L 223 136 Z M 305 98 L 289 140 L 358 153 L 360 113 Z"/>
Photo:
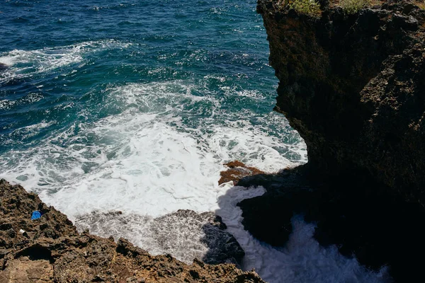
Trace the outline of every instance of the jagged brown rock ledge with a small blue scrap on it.
<path fill-rule="evenodd" d="M 38 210 L 40 219 L 31 220 Z M 21 229 L 25 232 L 22 232 Z M 21 232 L 20 232 L 21 231 Z M 186 265 L 123 238 L 78 233 L 37 195 L 0 180 L 0 282 L 263 282 L 235 265 Z"/>

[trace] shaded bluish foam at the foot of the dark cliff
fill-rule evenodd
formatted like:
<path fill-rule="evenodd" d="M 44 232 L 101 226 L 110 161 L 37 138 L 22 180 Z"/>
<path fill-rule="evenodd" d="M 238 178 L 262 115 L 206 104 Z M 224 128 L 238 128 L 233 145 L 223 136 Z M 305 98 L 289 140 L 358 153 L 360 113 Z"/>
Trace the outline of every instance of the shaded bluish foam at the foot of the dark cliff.
<path fill-rule="evenodd" d="M 370 272 L 355 258 L 345 258 L 336 246 L 323 248 L 312 238 L 313 224 L 294 216 L 293 233 L 284 248 L 261 243 L 244 230 L 242 210 L 237 203 L 262 195 L 262 187 L 231 187 L 218 199 L 216 214 L 245 250 L 244 269 L 255 268 L 267 282 L 389 282 L 386 269 Z"/>

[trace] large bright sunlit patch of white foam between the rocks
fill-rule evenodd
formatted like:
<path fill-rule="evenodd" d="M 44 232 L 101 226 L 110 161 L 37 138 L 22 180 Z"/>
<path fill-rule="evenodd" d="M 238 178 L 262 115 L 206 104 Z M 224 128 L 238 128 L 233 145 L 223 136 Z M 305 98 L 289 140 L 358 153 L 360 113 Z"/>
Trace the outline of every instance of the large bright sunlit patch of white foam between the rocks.
<path fill-rule="evenodd" d="M 194 96 L 193 87 L 173 81 L 107 89 L 103 107 L 125 112 L 76 124 L 24 153 L 11 152 L 20 160 L 1 176 L 26 179 L 23 185 L 71 218 L 99 209 L 160 216 L 217 209 L 224 193 L 217 180 L 227 161 L 265 171 L 291 165 L 276 150 L 283 146 L 279 139 L 246 117 L 216 125 L 211 117 L 220 101 Z M 182 115 L 198 112 L 210 116 L 194 125 L 182 121 Z"/>

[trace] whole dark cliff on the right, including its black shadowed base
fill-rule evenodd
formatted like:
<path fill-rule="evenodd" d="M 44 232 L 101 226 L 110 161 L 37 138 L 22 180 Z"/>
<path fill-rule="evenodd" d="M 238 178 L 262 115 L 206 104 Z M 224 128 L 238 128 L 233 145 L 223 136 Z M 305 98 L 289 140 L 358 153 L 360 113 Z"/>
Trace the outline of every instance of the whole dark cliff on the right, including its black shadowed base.
<path fill-rule="evenodd" d="M 279 79 L 276 110 L 307 144 L 305 166 L 239 185 L 244 226 L 283 246 L 294 213 L 317 223 L 323 246 L 397 282 L 414 282 L 425 253 L 425 11 L 384 1 L 348 15 L 321 1 L 319 17 L 259 0 Z"/>

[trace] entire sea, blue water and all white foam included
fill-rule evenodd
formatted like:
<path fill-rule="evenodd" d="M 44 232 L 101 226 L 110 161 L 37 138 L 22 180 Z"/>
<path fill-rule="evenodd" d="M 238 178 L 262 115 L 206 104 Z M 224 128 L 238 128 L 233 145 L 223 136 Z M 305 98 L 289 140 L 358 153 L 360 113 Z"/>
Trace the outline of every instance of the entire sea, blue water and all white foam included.
<path fill-rule="evenodd" d="M 128 229 L 112 219 L 96 233 L 115 229 L 153 254 L 190 263 L 180 246 L 154 246 L 147 226 L 177 209 L 212 211 L 244 248 L 242 268 L 268 282 L 385 282 L 385 269 L 320 247 L 300 216 L 284 248 L 257 241 L 236 204 L 264 189 L 217 183 L 228 161 L 270 173 L 307 161 L 272 111 L 278 81 L 255 9 L 255 0 L 1 1 L 0 178 L 72 221 L 120 210 Z"/>

